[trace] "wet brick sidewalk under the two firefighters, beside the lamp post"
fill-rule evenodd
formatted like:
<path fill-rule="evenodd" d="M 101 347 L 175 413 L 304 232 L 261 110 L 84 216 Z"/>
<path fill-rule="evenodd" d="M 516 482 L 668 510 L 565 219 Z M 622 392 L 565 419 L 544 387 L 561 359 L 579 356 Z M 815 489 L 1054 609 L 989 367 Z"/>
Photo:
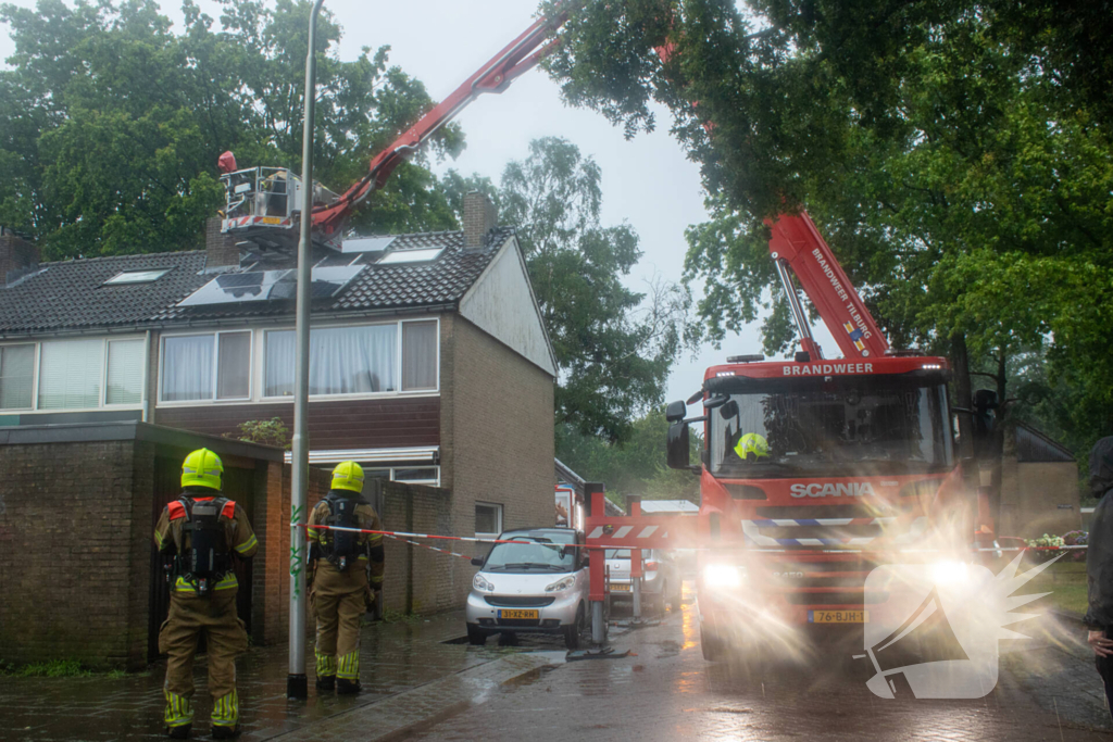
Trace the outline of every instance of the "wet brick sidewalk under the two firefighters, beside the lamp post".
<path fill-rule="evenodd" d="M 285 646 L 250 650 L 237 662 L 243 742 L 377 740 L 400 736 L 481 702 L 498 685 L 563 662 L 559 641 L 524 647 L 446 644 L 464 634 L 463 612 L 364 627 L 363 692 L 318 696 L 313 687 L 313 643 L 308 642 L 309 699 L 286 699 Z M 524 651 L 534 650 L 534 651 Z M 535 651 L 541 650 L 541 651 Z M 207 666 L 198 657 L 194 739 L 208 736 Z M 138 742 L 162 734 L 165 664 L 125 677 L 0 677 L 0 740 L 27 742 Z"/>

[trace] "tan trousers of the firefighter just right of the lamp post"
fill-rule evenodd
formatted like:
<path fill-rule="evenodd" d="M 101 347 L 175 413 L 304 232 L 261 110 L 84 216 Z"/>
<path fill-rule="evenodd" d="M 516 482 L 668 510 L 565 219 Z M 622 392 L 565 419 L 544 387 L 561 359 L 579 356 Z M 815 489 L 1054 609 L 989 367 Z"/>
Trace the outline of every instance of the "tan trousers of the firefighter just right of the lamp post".
<path fill-rule="evenodd" d="M 317 617 L 317 676 L 359 679 L 359 625 L 366 610 L 364 586 L 341 586 L 318 575 L 311 602 Z M 326 583 L 326 584 L 319 584 Z"/>

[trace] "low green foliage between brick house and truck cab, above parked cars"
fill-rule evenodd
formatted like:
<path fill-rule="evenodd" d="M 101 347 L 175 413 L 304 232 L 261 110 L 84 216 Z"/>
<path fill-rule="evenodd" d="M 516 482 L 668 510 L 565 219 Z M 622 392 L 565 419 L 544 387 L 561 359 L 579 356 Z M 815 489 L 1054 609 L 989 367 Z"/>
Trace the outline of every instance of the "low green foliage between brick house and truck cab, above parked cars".
<path fill-rule="evenodd" d="M 607 443 L 580 434 L 570 425 L 556 426 L 556 457 L 589 482 L 607 485 L 607 495 L 624 507 L 626 495 L 647 499 L 688 499 L 699 504 L 699 477 L 666 466 L 669 423 L 664 408 L 654 407 L 633 422 L 624 443 Z M 691 461 L 699 462 L 702 439 L 692 431 Z"/>

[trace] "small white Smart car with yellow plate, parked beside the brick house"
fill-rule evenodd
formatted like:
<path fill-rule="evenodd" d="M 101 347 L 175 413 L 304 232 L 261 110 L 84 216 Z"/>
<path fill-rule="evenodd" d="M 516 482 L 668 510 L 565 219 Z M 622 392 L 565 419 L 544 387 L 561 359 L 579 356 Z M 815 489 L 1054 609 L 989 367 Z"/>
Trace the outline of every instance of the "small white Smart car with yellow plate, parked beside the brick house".
<path fill-rule="evenodd" d="M 583 532 L 572 528 L 506 531 L 472 580 L 465 620 L 467 641 L 481 645 L 492 634 L 562 634 L 570 650 L 580 645 L 588 621 L 588 553 L 578 548 Z"/>

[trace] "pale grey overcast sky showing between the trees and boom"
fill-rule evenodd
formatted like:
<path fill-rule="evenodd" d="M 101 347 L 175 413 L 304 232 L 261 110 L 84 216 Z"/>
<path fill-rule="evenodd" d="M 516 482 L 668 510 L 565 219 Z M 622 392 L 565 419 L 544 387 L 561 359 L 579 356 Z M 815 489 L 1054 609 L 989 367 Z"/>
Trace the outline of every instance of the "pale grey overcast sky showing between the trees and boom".
<path fill-rule="evenodd" d="M 9 0 L 33 7 L 33 0 Z M 219 6 L 198 0 L 219 24 Z M 486 60 L 533 21 L 533 0 L 407 0 L 388 3 L 367 0 L 325 0 L 341 27 L 342 59 L 354 59 L 364 46 L 392 47 L 391 62 L 422 80 L 434 100 L 452 92 Z M 174 2 L 162 11 L 180 31 L 181 12 Z M 0 59 L 11 55 L 8 29 L 0 29 Z M 684 228 L 703 221 L 703 190 L 699 168 L 689 161 L 669 133 L 669 117 L 658 113 L 660 128 L 627 141 L 598 113 L 565 107 L 556 86 L 540 70 L 519 78 L 501 96 L 485 96 L 457 117 L 467 149 L 455 161 L 439 166 L 463 174 L 479 172 L 495 182 L 508 161 L 522 159 L 531 140 L 564 137 L 595 159 L 603 172 L 603 224 L 629 221 L 641 236 L 644 256 L 628 281 L 643 289 L 654 276 L 679 280 L 683 269 Z M 371 152 L 368 152 L 368 156 Z M 255 164 L 243 164 L 255 165 Z M 260 164 L 263 165 L 263 164 Z M 333 189 L 348 184 L 326 184 Z M 698 288 L 697 288 L 698 290 Z M 821 327 L 817 340 L 837 352 Z M 702 382 L 703 370 L 726 356 L 760 353 L 758 326 L 723 344 L 707 346 L 696 358 L 686 354 L 673 368 L 667 400 L 687 398 Z"/>

